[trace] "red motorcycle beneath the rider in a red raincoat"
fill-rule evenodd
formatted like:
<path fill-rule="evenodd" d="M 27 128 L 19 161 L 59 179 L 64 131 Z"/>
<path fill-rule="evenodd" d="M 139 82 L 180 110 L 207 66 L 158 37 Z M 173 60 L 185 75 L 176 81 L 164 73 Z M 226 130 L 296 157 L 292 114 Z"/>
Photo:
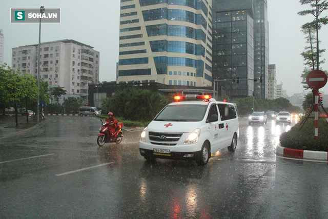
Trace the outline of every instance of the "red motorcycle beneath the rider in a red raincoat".
<path fill-rule="evenodd" d="M 110 126 L 113 124 L 108 123 L 108 122 L 103 122 L 100 120 L 103 126 L 99 129 L 99 134 L 97 138 L 97 144 L 99 146 L 103 146 L 105 143 L 112 143 L 115 142 L 116 144 L 121 143 L 122 137 L 123 137 L 123 132 L 122 132 L 122 127 L 124 127 L 123 123 L 118 123 L 117 124 L 117 129 L 114 131 L 113 135 L 114 138 L 111 138 L 111 133 L 110 133 Z"/>

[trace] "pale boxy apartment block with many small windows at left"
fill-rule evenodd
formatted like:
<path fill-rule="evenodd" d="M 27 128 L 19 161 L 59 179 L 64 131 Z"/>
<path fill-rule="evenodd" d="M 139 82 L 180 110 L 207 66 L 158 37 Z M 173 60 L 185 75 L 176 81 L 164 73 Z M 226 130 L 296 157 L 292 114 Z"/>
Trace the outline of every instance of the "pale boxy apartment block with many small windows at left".
<path fill-rule="evenodd" d="M 12 49 L 12 68 L 37 77 L 38 45 Z M 41 44 L 40 78 L 49 88 L 63 87 L 66 97 L 81 97 L 88 102 L 88 85 L 99 82 L 99 52 L 72 39 Z M 60 99 L 60 103 L 64 101 Z"/>

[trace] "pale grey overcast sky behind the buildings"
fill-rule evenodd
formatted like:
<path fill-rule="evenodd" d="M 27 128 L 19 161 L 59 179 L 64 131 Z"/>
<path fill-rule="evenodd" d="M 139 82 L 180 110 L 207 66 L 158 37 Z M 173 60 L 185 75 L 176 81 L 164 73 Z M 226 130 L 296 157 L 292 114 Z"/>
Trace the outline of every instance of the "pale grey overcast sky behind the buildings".
<path fill-rule="evenodd" d="M 11 24 L 10 8 L 60 8 L 60 24 L 42 24 L 41 42 L 74 39 L 100 52 L 100 81 L 114 81 L 118 62 L 119 0 L 10 0 L 0 4 L 0 28 L 5 35 L 5 63 L 11 66 L 14 47 L 38 43 L 38 24 Z M 276 64 L 277 84 L 282 83 L 288 95 L 303 91 L 301 85 L 304 61 L 300 53 L 305 39 L 300 26 L 313 16 L 299 16 L 298 11 L 310 9 L 298 0 L 268 0 L 270 64 Z M 325 12 L 324 15 L 328 15 Z M 328 26 L 319 33 L 321 49 L 327 51 L 321 67 L 328 70 Z M 328 84 L 328 83 L 327 83 Z M 328 85 L 321 89 L 328 94 Z"/>

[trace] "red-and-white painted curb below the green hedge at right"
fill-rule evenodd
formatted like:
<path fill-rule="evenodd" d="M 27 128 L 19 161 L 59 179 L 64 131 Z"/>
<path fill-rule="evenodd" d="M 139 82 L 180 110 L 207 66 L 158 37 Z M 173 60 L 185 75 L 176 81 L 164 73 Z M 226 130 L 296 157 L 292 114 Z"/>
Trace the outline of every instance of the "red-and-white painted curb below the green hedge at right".
<path fill-rule="evenodd" d="M 290 148 L 281 147 L 280 144 L 277 146 L 277 154 L 286 157 L 328 161 L 328 152 L 290 149 Z"/>

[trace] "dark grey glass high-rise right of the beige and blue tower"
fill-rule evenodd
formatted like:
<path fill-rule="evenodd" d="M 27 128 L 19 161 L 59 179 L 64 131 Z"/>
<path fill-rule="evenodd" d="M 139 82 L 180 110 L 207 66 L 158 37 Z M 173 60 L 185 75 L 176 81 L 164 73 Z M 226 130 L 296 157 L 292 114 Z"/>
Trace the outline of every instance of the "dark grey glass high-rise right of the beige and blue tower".
<path fill-rule="evenodd" d="M 213 0 L 212 75 L 219 93 L 268 97 L 267 17 L 267 0 Z"/>

